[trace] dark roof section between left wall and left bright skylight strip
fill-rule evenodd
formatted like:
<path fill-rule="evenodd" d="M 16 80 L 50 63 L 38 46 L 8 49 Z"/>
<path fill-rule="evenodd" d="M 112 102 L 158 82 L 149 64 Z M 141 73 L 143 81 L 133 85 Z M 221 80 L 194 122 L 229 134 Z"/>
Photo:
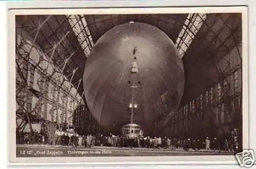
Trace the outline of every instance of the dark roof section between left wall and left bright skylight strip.
<path fill-rule="evenodd" d="M 83 72 L 81 62 L 86 61 L 86 55 L 79 42 L 79 35 L 75 35 L 73 30 L 77 24 L 70 25 L 71 16 L 65 15 L 32 15 L 32 16 L 17 16 L 16 21 L 27 31 L 31 37 L 35 37 L 36 20 L 46 20 L 42 29 L 38 31 L 36 44 L 42 49 L 42 52 L 51 58 L 53 64 L 61 69 L 61 73 L 72 79 L 72 84 L 78 85 L 81 77 L 78 76 Z M 80 60 L 79 62 L 77 60 Z M 77 74 L 72 76 L 73 70 L 76 69 Z M 78 87 L 78 92 L 81 95 L 82 86 Z"/>

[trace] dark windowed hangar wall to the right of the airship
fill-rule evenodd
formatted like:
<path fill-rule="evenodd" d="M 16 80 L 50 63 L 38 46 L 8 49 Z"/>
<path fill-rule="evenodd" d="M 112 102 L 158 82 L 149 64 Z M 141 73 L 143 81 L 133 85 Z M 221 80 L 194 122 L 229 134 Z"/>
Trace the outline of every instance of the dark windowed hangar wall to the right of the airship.
<path fill-rule="evenodd" d="M 166 124 L 165 133 L 177 137 L 225 137 L 238 128 L 242 134 L 241 54 L 240 43 L 219 63 L 207 67 L 212 85 L 198 93 L 196 98 L 179 106 Z"/>

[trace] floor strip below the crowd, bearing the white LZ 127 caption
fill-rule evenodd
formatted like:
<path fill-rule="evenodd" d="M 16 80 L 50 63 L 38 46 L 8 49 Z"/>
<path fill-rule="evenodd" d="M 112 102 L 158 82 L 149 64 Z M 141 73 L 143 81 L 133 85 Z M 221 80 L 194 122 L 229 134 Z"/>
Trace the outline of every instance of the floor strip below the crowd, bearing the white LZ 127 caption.
<path fill-rule="evenodd" d="M 221 151 L 177 149 L 146 149 L 146 148 L 113 148 L 92 147 L 72 148 L 60 146 L 17 145 L 16 157 L 88 157 L 88 156 L 193 156 L 193 155 L 232 155 L 233 153 Z"/>

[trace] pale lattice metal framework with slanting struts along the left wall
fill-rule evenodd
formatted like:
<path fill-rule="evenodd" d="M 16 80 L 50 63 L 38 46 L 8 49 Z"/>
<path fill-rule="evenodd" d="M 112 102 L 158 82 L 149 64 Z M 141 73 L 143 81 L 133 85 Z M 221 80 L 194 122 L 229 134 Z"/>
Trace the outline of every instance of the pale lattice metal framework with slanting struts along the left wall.
<path fill-rule="evenodd" d="M 36 39 L 39 31 L 49 18 L 50 17 L 38 25 L 36 28 L 36 36 L 32 41 L 27 39 L 26 31 L 24 31 L 22 27 L 16 28 L 16 32 L 20 32 L 16 37 L 16 69 L 18 75 L 16 78 L 16 103 L 18 107 L 16 113 L 16 127 L 18 131 L 23 131 L 26 125 L 29 124 L 32 132 L 33 129 L 31 123 L 33 122 L 31 122 L 31 119 L 35 118 L 39 118 L 39 120 L 40 118 L 45 119 L 46 124 L 48 124 L 48 104 L 52 105 L 52 108 L 49 111 L 51 114 L 51 122 L 54 121 L 53 119 L 55 118 L 55 122 L 58 125 L 67 123 L 67 114 L 73 112 L 72 107 L 71 110 L 67 110 L 67 96 L 71 98 L 71 102 L 77 102 L 79 104 L 82 102 L 82 99 L 77 95 L 77 92 L 71 92 L 72 89 L 77 91 L 81 80 L 75 87 L 71 83 L 72 78 L 68 80 L 63 76 L 63 69 L 65 69 L 73 54 L 71 54 L 69 58 L 65 58 L 65 62 L 60 69 L 59 66 L 54 65 L 51 57 L 43 54 L 43 52 L 36 46 Z M 53 46 L 51 56 L 54 55 L 56 47 L 57 45 Z M 37 56 L 37 59 L 35 55 Z M 49 74 L 51 68 L 52 73 Z M 76 71 L 72 72 L 72 77 L 75 73 Z M 49 83 L 53 85 L 53 88 L 50 91 L 53 94 L 53 99 L 49 98 Z M 35 89 L 35 85 L 38 86 L 38 90 Z M 60 96 L 60 93 L 62 96 Z M 33 97 L 36 97 L 37 101 L 35 101 L 35 105 L 32 108 Z M 62 114 L 58 114 L 59 109 Z M 56 111 L 55 117 L 53 116 L 54 111 Z M 26 117 L 24 114 L 26 114 Z M 35 115 L 35 117 L 32 115 Z"/>

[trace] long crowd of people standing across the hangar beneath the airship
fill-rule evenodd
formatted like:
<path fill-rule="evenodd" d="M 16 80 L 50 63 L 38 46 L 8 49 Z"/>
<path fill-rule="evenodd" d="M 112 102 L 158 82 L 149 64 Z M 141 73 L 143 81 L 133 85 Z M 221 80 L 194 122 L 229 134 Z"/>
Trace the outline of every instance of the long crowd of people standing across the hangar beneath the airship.
<path fill-rule="evenodd" d="M 115 136 L 113 134 L 105 135 L 78 135 L 75 132 L 65 132 L 56 130 L 55 133 L 49 135 L 47 133 L 39 133 L 33 131 L 32 133 L 16 133 L 17 144 L 49 144 L 52 146 L 72 146 L 72 147 L 84 147 L 91 148 L 94 146 L 107 146 L 107 147 L 128 147 L 128 148 L 152 148 L 152 149 L 189 149 L 200 150 L 213 150 L 220 151 L 226 150 L 234 152 L 238 149 L 237 142 L 233 139 L 217 139 L 217 137 L 209 137 L 205 139 L 178 139 L 168 137 L 144 137 L 144 138 L 124 138 L 122 136 Z"/>

